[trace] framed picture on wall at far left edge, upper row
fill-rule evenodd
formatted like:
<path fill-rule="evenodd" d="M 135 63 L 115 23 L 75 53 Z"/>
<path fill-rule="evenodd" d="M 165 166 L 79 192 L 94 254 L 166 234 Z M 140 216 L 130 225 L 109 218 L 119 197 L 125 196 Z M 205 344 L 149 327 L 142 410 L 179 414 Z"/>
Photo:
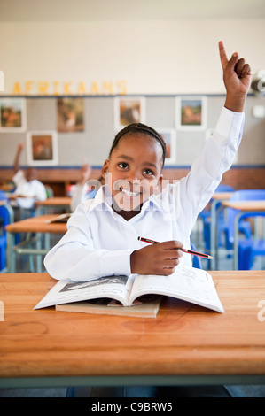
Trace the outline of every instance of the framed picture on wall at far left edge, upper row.
<path fill-rule="evenodd" d="M 0 131 L 24 132 L 27 127 L 26 101 L 23 98 L 0 98 Z"/>

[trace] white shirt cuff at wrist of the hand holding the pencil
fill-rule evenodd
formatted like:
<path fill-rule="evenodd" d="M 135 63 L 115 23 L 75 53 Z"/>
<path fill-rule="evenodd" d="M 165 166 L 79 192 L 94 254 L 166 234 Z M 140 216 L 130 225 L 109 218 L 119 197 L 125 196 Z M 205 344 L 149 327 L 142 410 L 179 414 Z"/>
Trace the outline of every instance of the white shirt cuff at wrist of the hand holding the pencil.
<path fill-rule="evenodd" d="M 100 275 L 124 274 L 129 276 L 130 255 L 134 250 L 113 250 L 101 258 Z"/>

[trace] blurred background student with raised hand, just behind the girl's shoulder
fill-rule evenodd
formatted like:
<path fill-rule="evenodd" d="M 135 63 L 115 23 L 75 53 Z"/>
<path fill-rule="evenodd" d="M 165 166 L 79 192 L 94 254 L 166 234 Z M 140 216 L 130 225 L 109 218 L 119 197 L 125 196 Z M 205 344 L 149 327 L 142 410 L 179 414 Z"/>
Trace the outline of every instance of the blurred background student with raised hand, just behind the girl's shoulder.
<path fill-rule="evenodd" d="M 98 181 L 91 181 L 90 174 L 92 172 L 91 166 L 88 163 L 84 163 L 80 169 L 80 180 L 74 185 L 72 191 L 71 211 L 74 212 L 78 204 L 82 204 L 88 199 L 93 199 L 97 190 L 103 181 L 100 177 Z M 88 182 L 90 181 L 90 182 Z"/>

